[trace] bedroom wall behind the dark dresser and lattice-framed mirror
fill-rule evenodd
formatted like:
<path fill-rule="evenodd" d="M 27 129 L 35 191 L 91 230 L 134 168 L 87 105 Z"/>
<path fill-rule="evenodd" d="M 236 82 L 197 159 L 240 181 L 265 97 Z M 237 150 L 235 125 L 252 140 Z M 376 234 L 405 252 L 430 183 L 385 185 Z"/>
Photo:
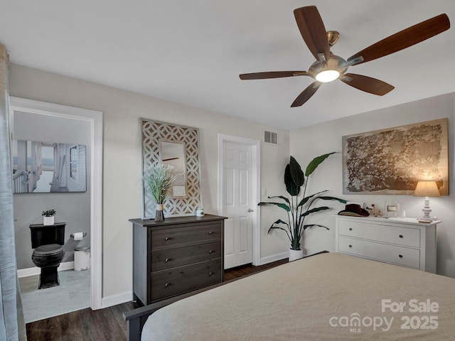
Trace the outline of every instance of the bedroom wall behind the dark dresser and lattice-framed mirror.
<path fill-rule="evenodd" d="M 286 130 L 20 65 L 10 66 L 9 81 L 11 96 L 104 112 L 103 298 L 132 291 L 132 227 L 128 220 L 141 216 L 139 117 L 200 129 L 205 212 L 218 213 L 218 133 L 261 140 L 264 129 L 277 131 L 279 146 L 261 146 L 261 187 L 267 188 L 267 194 L 284 192 L 282 173 L 289 160 Z M 267 236 L 273 214 L 265 211 L 261 256 L 269 257 L 285 251 L 286 245 Z"/>

